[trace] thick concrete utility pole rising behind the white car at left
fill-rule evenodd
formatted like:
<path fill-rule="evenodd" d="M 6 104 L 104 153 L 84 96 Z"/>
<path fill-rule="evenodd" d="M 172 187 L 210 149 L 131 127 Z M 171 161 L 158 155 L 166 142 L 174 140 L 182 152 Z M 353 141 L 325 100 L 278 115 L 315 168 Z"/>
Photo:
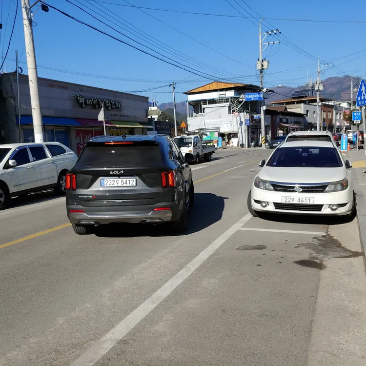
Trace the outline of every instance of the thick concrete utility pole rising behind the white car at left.
<path fill-rule="evenodd" d="M 40 95 L 38 90 L 38 74 L 36 53 L 34 50 L 33 26 L 31 8 L 39 1 L 36 1 L 32 6 L 29 5 L 29 0 L 21 0 L 21 9 L 23 14 L 25 54 L 27 55 L 29 91 L 32 107 L 34 141 L 43 142 L 43 122 L 41 113 Z"/>

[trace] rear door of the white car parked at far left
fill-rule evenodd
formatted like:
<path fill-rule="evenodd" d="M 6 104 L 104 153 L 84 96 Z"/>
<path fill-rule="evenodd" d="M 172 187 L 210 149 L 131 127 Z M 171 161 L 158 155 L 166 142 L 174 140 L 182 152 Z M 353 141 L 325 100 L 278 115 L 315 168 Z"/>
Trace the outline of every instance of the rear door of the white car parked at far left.
<path fill-rule="evenodd" d="M 57 167 L 55 159 L 49 155 L 43 145 L 29 146 L 31 158 L 36 168 L 37 187 L 57 184 Z"/>

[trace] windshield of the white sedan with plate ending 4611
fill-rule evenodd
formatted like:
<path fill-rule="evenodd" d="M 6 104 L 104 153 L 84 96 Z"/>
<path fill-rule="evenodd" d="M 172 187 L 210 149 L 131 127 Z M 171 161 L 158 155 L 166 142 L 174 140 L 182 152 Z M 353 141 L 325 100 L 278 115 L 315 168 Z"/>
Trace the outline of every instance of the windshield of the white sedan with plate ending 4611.
<path fill-rule="evenodd" d="M 280 147 L 267 166 L 337 168 L 343 166 L 334 147 Z"/>

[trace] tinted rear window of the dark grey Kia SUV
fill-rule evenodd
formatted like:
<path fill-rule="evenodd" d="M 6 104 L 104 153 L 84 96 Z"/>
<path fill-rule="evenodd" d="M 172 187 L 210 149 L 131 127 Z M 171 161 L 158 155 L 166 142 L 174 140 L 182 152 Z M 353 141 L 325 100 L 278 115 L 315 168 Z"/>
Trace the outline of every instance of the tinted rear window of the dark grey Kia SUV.
<path fill-rule="evenodd" d="M 78 164 L 92 168 L 157 167 L 162 165 L 160 146 L 86 146 Z"/>

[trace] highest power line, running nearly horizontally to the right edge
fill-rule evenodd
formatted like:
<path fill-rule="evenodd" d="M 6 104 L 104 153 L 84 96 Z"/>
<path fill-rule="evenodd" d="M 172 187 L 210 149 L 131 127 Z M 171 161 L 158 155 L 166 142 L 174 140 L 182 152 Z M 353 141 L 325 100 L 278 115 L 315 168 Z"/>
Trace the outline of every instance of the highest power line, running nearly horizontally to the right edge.
<path fill-rule="evenodd" d="M 204 15 L 210 17 L 222 17 L 222 18 L 251 18 L 260 20 L 261 18 L 256 17 L 245 17 L 240 15 L 227 15 L 227 14 L 213 14 L 213 13 L 198 13 L 198 12 L 190 12 L 190 11 L 181 11 L 181 10 L 169 10 L 169 9 L 159 9 L 159 8 L 150 8 L 144 6 L 135 6 L 135 5 L 124 5 L 124 4 L 116 4 L 115 2 L 108 1 L 96 1 L 101 4 L 109 4 L 116 6 L 124 6 L 129 8 L 138 8 L 145 10 L 154 10 L 154 11 L 162 11 L 168 13 L 178 13 L 178 14 L 190 14 L 190 15 Z M 317 19 L 290 19 L 290 18 L 265 18 L 267 20 L 281 20 L 281 21 L 307 21 L 307 22 L 319 22 L 319 23 L 366 23 L 365 20 L 317 20 Z"/>

